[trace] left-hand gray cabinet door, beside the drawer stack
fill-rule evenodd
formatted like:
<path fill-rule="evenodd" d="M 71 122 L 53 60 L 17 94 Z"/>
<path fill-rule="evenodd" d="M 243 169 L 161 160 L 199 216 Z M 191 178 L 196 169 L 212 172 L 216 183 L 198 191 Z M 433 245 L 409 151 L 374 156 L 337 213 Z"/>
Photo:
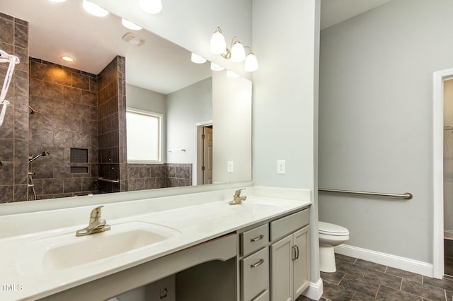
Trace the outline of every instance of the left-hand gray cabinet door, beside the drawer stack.
<path fill-rule="evenodd" d="M 292 235 L 270 245 L 270 293 L 273 301 L 292 300 Z"/>

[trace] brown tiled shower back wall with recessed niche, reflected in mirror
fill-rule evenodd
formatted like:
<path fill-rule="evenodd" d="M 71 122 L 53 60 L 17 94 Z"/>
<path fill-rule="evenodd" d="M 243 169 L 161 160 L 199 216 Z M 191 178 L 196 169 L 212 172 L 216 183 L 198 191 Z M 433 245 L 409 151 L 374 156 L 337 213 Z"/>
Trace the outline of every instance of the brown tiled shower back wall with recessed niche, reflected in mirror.
<path fill-rule="evenodd" d="M 29 155 L 50 153 L 29 164 L 36 199 L 97 191 L 97 76 L 30 58 L 29 81 L 30 107 L 38 111 L 29 115 Z M 71 149 L 87 156 L 74 158 Z"/>

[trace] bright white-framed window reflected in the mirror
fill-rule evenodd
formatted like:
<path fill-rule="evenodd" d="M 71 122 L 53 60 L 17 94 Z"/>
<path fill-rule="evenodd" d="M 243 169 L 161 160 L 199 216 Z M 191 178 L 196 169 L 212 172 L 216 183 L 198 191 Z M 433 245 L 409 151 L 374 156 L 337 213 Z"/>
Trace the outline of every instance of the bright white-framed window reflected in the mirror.
<path fill-rule="evenodd" d="M 162 114 L 127 109 L 127 163 L 161 163 Z"/>

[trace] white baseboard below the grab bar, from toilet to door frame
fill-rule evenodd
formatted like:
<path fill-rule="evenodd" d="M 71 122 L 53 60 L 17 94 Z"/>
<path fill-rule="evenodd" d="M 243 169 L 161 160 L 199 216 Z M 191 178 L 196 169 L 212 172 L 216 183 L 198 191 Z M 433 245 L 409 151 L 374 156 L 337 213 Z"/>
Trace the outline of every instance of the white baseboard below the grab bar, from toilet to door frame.
<path fill-rule="evenodd" d="M 404 271 L 418 273 L 423 276 L 433 277 L 434 275 L 434 266 L 423 261 L 417 261 L 401 256 L 376 252 L 369 249 L 362 249 L 359 247 L 352 247 L 348 244 L 340 244 L 339 246 L 335 247 L 335 252 L 338 254 L 371 261 L 376 264 L 382 264 L 384 266 L 391 266 L 392 268 L 399 268 Z"/>

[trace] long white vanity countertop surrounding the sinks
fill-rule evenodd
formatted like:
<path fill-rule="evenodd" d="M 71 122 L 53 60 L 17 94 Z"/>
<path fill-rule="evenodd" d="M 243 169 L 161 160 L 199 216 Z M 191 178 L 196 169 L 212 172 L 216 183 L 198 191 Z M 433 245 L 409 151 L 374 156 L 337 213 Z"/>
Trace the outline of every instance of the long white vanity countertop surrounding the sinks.
<path fill-rule="evenodd" d="M 253 193 L 253 188 L 248 190 Z M 102 218 L 107 220 L 108 224 L 111 225 L 112 230 L 109 232 L 115 231 L 115 225 L 117 224 L 138 221 L 171 228 L 176 230 L 176 235 L 162 242 L 134 249 L 130 252 L 99 259 L 89 264 L 81 264 L 51 272 L 28 271 L 27 268 L 24 269 L 23 266 L 28 266 L 27 260 L 31 261 L 32 259 L 24 258 L 23 254 L 25 253 L 23 250 L 30 245 L 30 242 L 43 237 L 49 237 L 50 235 L 67 234 L 75 236 L 76 230 L 84 228 L 88 224 L 78 224 L 79 219 L 76 218 L 75 222 L 74 220 L 70 220 L 66 224 L 55 222 L 52 225 L 52 220 L 58 221 L 63 218 L 69 218 L 69 216 L 74 214 L 80 215 L 80 208 L 74 208 L 72 210 L 74 212 L 71 212 L 71 209 L 65 209 L 61 214 L 59 214 L 58 210 L 34 213 L 30 215 L 33 216 L 33 219 L 28 220 L 28 223 L 35 223 L 37 225 L 35 227 L 38 230 L 37 232 L 33 232 L 33 226 L 30 228 L 27 226 L 25 228 L 28 230 L 23 230 L 22 232 L 18 230 L 17 235 L 0 237 L 0 300 L 35 300 L 62 290 L 67 290 L 76 285 L 93 281 L 96 278 L 108 276 L 117 271 L 122 271 L 126 268 L 137 266 L 138 264 L 191 247 L 200 242 L 205 242 L 249 225 L 304 208 L 311 203 L 309 191 L 306 195 L 308 197 L 299 199 L 278 199 L 275 197 L 250 194 L 244 203 L 235 206 L 228 204 L 231 198 L 224 199 L 223 201 L 205 200 L 193 206 L 177 206 L 177 208 L 154 205 L 154 207 L 151 206 L 153 208 L 152 210 L 144 210 L 141 213 L 127 216 L 121 216 L 117 212 L 121 211 L 122 206 L 130 207 L 131 203 L 112 204 L 112 207 L 115 206 L 115 211 L 109 211 L 110 204 L 105 204 Z M 203 197 L 203 194 L 197 197 Z M 180 196 L 178 198 L 180 199 Z M 152 202 L 152 200 L 146 201 L 148 202 L 147 208 L 151 208 L 149 207 L 149 202 Z M 172 198 L 168 197 L 165 201 L 171 202 Z M 135 205 L 139 206 L 139 203 L 135 203 Z M 94 207 L 84 208 L 84 212 Z M 159 210 L 156 207 L 160 207 Z M 89 218 L 88 213 L 84 217 L 86 221 Z M 59 214 L 59 217 L 52 218 L 55 214 Z M 0 227 L 11 227 L 10 229 L 3 228 L 1 231 L 11 230 L 11 232 L 14 232 L 12 227 L 17 227 L 17 225 L 13 223 L 13 220 L 21 220 L 23 216 L 7 216 L 4 220 L 1 220 L 1 218 Z M 57 228 L 55 226 L 56 224 L 63 226 Z M 103 234 L 98 233 L 96 235 Z M 89 236 L 94 239 L 96 235 Z M 68 256 L 71 256 L 71 254 L 68 254 Z M 36 261 L 33 258 L 35 264 Z"/>

